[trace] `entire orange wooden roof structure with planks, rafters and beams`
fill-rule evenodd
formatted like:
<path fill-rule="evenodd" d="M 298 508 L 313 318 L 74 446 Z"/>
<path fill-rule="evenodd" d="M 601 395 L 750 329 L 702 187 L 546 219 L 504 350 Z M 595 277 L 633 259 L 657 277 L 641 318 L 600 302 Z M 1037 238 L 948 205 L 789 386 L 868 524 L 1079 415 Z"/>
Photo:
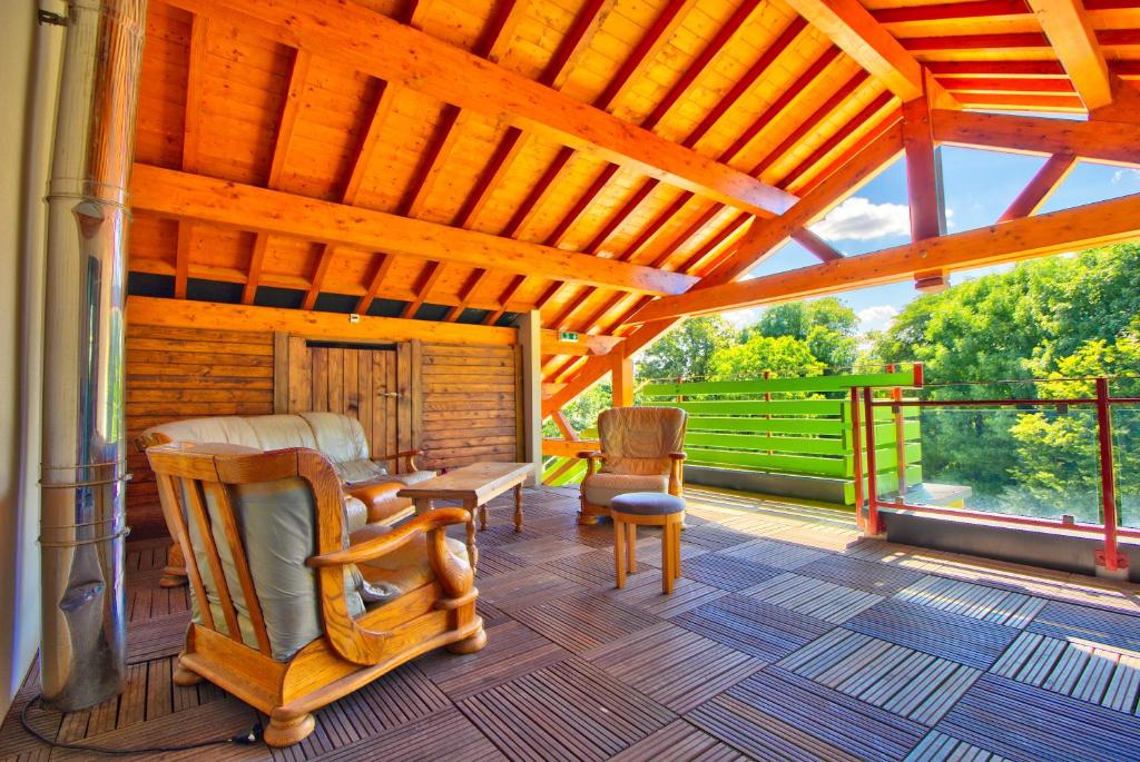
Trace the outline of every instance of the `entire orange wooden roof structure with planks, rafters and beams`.
<path fill-rule="evenodd" d="M 1134 197 L 1029 218 L 1078 159 L 1140 164 L 1140 0 L 152 0 L 147 24 L 132 273 L 539 310 L 591 335 L 547 346 L 544 412 L 684 314 L 1140 236 Z M 938 144 L 1050 158 L 947 236 Z M 914 243 L 808 230 L 903 153 Z M 735 281 L 789 238 L 821 263 Z"/>

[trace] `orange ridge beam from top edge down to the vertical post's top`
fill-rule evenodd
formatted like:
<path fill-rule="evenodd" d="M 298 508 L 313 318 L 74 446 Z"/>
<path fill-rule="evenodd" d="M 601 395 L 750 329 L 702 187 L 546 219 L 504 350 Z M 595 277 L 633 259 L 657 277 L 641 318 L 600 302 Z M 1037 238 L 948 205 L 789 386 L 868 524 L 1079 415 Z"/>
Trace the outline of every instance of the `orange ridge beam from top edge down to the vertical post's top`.
<path fill-rule="evenodd" d="M 922 97 L 922 66 L 860 0 L 790 0 L 789 5 L 904 103 Z"/>

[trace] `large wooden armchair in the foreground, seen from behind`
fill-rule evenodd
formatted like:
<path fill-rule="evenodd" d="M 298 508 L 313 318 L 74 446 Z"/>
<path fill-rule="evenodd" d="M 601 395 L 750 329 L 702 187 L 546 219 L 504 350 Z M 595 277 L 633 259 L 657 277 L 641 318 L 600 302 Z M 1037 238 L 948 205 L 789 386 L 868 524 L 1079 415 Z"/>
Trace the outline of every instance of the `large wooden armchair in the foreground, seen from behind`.
<path fill-rule="evenodd" d="M 465 548 L 445 534 L 466 510 L 347 540 L 340 478 L 316 451 L 181 443 L 147 457 L 189 562 L 194 621 L 174 681 L 205 678 L 268 714 L 269 745 L 302 740 L 315 710 L 410 658 L 486 644 Z"/>

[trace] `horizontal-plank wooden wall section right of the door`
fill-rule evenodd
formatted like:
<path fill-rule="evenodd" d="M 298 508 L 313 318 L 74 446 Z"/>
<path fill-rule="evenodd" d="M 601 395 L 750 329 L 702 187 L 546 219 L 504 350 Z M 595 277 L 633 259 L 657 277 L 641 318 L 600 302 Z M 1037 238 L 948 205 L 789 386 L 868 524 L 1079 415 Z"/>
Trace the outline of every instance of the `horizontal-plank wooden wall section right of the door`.
<path fill-rule="evenodd" d="M 518 346 L 423 345 L 423 466 L 519 459 Z"/>

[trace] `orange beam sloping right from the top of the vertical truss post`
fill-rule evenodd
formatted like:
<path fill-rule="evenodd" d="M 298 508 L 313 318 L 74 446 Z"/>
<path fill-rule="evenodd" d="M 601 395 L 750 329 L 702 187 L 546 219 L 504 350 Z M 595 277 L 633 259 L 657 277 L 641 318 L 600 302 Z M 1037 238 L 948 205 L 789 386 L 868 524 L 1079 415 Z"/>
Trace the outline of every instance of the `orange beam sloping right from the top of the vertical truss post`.
<path fill-rule="evenodd" d="M 934 139 L 974 148 L 1023 154 L 1072 154 L 1078 159 L 1140 165 L 1140 124 L 1050 120 L 1040 116 L 975 114 L 935 109 Z"/>

